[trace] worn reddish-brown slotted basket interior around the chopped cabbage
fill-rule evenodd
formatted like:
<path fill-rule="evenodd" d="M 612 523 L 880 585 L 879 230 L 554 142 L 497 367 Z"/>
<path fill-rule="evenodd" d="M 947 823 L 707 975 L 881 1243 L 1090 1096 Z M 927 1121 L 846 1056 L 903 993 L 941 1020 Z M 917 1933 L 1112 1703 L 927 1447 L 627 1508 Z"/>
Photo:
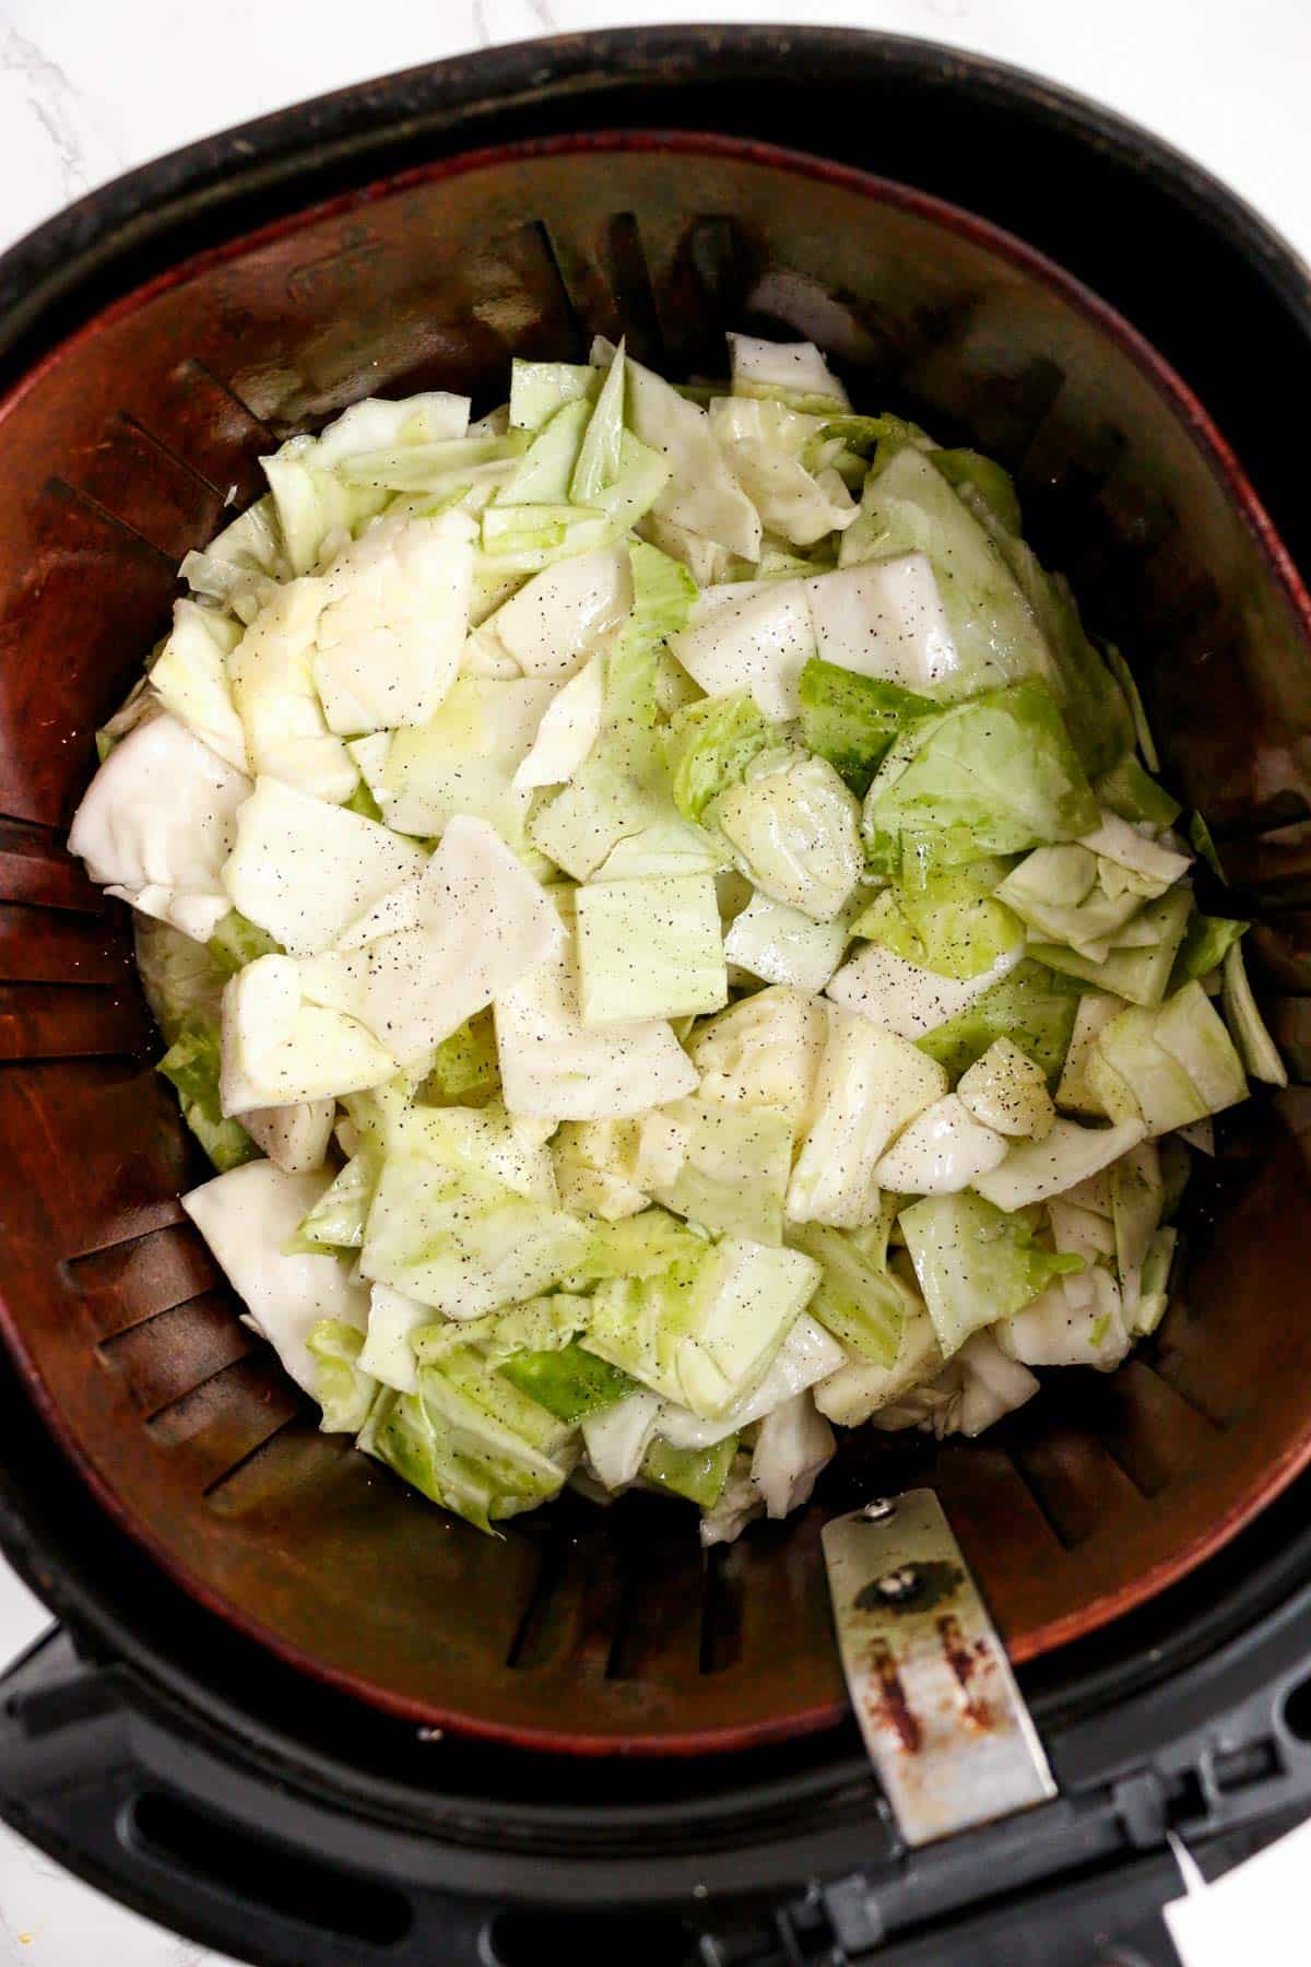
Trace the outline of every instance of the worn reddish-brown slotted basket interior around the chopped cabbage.
<path fill-rule="evenodd" d="M 1297 1090 L 1223 1127 L 1158 1340 L 979 1446 L 857 1444 L 794 1524 L 704 1562 L 694 1520 L 566 1501 L 487 1542 L 314 1432 L 234 1316 L 106 909 L 63 848 L 92 730 L 179 557 L 257 458 L 368 393 L 503 393 L 594 330 L 719 372 L 725 327 L 812 334 L 863 407 L 1014 466 L 1044 553 L 1146 681 L 1168 775 L 1228 840 L 1297 1066 L 1311 663 L 1278 547 L 1195 405 L 1087 295 L 898 187 L 710 138 L 578 140 L 371 187 L 134 293 L 0 415 L 4 1328 L 102 1503 L 199 1597 L 419 1719 L 574 1747 L 735 1747 L 841 1707 L 818 1526 L 932 1479 L 1018 1658 L 1179 1576 L 1307 1460 Z M 1203 1184 L 1205 1186 L 1205 1184 Z M 892 1456 L 888 1461 L 886 1456 Z"/>

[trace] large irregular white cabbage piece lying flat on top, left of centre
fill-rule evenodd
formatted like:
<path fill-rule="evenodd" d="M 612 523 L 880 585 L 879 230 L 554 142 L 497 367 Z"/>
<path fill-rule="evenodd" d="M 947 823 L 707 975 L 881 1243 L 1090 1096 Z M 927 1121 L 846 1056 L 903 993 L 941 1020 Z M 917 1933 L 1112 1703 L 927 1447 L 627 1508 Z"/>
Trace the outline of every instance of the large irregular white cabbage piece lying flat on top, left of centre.
<path fill-rule="evenodd" d="M 560 940 L 550 897 L 505 842 L 456 816 L 421 873 L 301 966 L 301 989 L 419 1066 Z"/>

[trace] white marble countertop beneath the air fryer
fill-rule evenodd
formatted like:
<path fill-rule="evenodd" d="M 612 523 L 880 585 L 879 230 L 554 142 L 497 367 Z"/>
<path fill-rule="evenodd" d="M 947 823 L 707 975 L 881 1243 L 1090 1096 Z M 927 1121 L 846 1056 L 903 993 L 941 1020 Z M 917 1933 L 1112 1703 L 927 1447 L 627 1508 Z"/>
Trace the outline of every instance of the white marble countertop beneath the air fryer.
<path fill-rule="evenodd" d="M 539 33 L 655 22 L 886 28 L 1081 89 L 1228 179 L 1311 258 L 1307 0 L 0 0 L 0 248 L 104 179 L 326 89 Z M 0 1562 L 0 1660 L 41 1629 Z M 1303 1902 L 1305 1920 L 1305 1902 Z M 1299 1922 L 1301 1924 L 1301 1922 Z M 1291 1930 L 1291 1920 L 1289 1920 Z M 1256 1937 L 1256 1936 L 1252 1936 Z M 216 1967 L 77 1884 L 0 1825 L 0 1967 Z M 1270 1957 L 1270 1955 L 1266 1955 Z"/>

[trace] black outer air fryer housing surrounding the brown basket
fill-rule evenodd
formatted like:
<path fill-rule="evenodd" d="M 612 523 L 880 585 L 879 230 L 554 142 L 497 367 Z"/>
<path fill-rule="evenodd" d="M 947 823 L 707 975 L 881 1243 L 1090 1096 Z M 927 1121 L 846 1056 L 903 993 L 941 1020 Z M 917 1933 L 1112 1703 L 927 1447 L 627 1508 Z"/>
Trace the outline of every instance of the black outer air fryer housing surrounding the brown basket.
<path fill-rule="evenodd" d="M 1046 252 L 1173 364 L 1293 559 L 1311 566 L 1301 468 L 1311 289 L 1287 248 L 1205 173 L 1116 118 L 991 63 L 881 35 L 708 28 L 539 41 L 199 144 L 83 201 L 0 262 L 0 391 L 37 374 L 114 301 L 283 214 L 444 157 L 637 130 L 786 144 L 953 201 Z M 713 212 L 713 144 L 704 169 Z M 713 260 L 713 238 L 704 246 Z M 623 224 L 611 230 L 611 260 L 625 323 L 641 336 L 655 325 L 651 289 Z M 578 299 L 566 277 L 562 311 Z M 250 336 L 257 352 L 257 321 Z M 234 399 L 238 423 L 242 407 Z M 1089 460 L 1083 480 L 1063 474 L 1046 513 L 1055 535 L 1093 515 L 1099 470 L 1112 472 L 1114 454 Z M 167 460 L 159 478 L 167 513 Z M 1042 506 L 1036 519 L 1042 529 Z M 1085 602 L 1097 624 L 1095 596 Z M 22 649 L 4 659 L 22 679 Z M 120 651 L 122 665 L 132 659 Z M 1232 718 L 1244 706 L 1228 714 L 1217 745 L 1226 759 L 1242 751 Z M 16 759 L 0 757 L 0 773 L 16 783 Z M 1278 985 L 1293 993 L 1282 999 L 1280 1029 L 1295 1054 L 1307 806 L 1293 777 L 1266 808 L 1248 803 L 1246 822 L 1234 799 L 1232 828 L 1246 824 L 1250 838 L 1234 838 L 1232 854 L 1254 907 L 1291 909 L 1266 946 L 1282 964 Z M 0 873 L 18 867 L 26 879 L 41 864 L 39 887 L 51 879 L 53 846 L 31 812 L 12 810 L 0 820 Z M 10 903 L 0 928 L 14 946 L 24 944 L 24 907 L 49 907 L 37 887 L 0 887 Z M 77 905 L 73 889 L 57 903 Z M 0 970 L 20 980 L 0 1003 L 0 1056 L 16 1060 L 0 1068 L 8 1074 L 31 1056 L 81 1056 L 81 1009 L 69 1005 L 51 1011 L 43 1054 L 24 1048 L 24 991 L 41 978 L 59 984 L 49 938 L 41 948 L 47 968 Z M 83 1050 L 120 1043 L 92 1039 Z M 1282 1121 L 1289 1137 L 1301 1131 L 1291 1100 Z M 1258 1115 L 1256 1125 L 1274 1123 Z M 1221 1194 L 1226 1180 L 1232 1194 L 1252 1186 L 1254 1139 L 1234 1135 Z M 1295 1157 L 1287 1166 L 1299 1174 Z M 14 1302 L 31 1259 L 20 1202 L 4 1206 Z M 140 1227 L 153 1235 L 155 1218 Z M 112 1298 L 104 1279 L 100 1288 Z M 1256 1312 L 1301 1320 L 1291 1302 Z M 212 1371 L 226 1371 L 226 1355 L 214 1357 Z M 1181 1890 L 1168 1829 L 1203 1867 L 1223 1867 L 1295 1821 L 1311 1796 L 1307 1477 L 1225 1548 L 1226 1524 L 1213 1524 L 1219 1554 L 1199 1570 L 1150 1601 L 1126 1593 L 1138 1609 L 1024 1670 L 1061 1784 L 1055 1804 L 908 1857 L 849 1725 L 816 1729 L 812 1717 L 810 1733 L 733 1755 L 580 1760 L 419 1727 L 311 1678 L 291 1664 L 295 1648 L 275 1656 L 151 1562 L 110 1513 L 104 1471 L 90 1469 L 94 1493 L 55 1444 L 47 1420 L 61 1416 L 53 1404 L 37 1412 L 39 1387 L 39 1375 L 24 1381 L 0 1351 L 0 1536 L 63 1623 L 2 1684 L 0 1810 L 104 1890 L 256 1961 L 519 1967 L 544 1949 L 576 1967 L 696 1957 L 747 1967 L 879 1949 L 888 1961 L 971 1967 L 1168 1963 L 1156 1910 Z M 1048 1424 L 1042 1412 L 1054 1410 L 1036 1402 L 1036 1430 Z M 1289 1446 L 1268 1475 L 1270 1495 L 1299 1460 Z M 653 1519 L 629 1520 L 631 1546 Z M 975 1536 L 987 1530 L 985 1515 Z M 556 1536 L 578 1548 L 576 1532 L 582 1517 L 566 1515 Z M 770 1534 L 753 1546 L 753 1564 L 786 1566 L 786 1534 L 772 1544 Z M 1077 1558 L 1077 1538 L 1067 1542 Z M 713 1670 L 712 1617 L 704 1633 L 702 1666 Z M 788 1642 L 784 1625 L 784 1696 Z M 700 1709 L 713 1709 L 713 1698 L 702 1694 Z M 759 1741 L 769 1733 L 755 1729 Z"/>

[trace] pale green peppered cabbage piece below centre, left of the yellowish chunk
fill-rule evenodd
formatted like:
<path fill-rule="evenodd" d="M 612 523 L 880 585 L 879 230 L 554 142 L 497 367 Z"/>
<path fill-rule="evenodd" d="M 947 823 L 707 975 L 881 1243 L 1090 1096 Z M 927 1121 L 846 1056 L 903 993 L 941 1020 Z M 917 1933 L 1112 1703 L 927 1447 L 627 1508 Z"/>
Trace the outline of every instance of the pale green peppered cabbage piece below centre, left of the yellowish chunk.
<path fill-rule="evenodd" d="M 792 1172 L 786 1113 L 676 1100 L 643 1119 L 635 1166 L 645 1162 L 660 1162 L 643 1186 L 664 1208 L 715 1235 L 782 1243 Z"/>

